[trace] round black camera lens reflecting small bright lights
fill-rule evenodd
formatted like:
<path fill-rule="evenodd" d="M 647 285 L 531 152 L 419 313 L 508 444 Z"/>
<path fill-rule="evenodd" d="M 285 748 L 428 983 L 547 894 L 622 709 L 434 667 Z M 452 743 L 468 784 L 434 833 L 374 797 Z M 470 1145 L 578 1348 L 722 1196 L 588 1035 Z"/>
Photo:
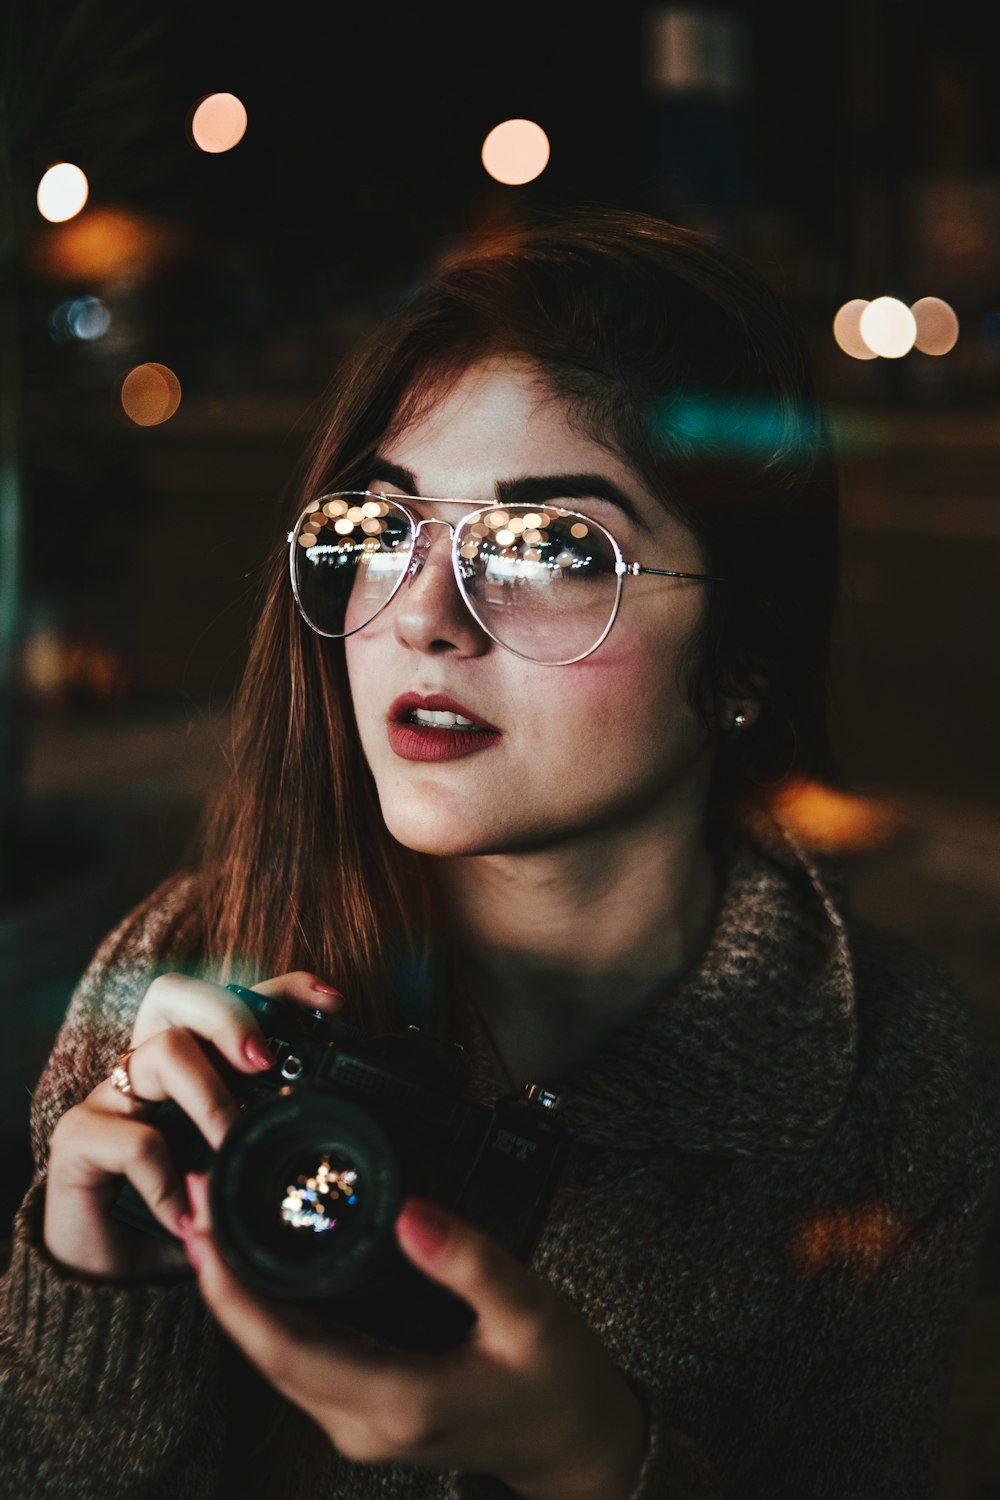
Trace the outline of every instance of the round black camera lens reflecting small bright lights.
<path fill-rule="evenodd" d="M 210 1192 L 226 1262 L 274 1296 L 333 1300 L 396 1252 L 396 1150 L 367 1112 L 328 1094 L 249 1110 L 216 1154 Z"/>

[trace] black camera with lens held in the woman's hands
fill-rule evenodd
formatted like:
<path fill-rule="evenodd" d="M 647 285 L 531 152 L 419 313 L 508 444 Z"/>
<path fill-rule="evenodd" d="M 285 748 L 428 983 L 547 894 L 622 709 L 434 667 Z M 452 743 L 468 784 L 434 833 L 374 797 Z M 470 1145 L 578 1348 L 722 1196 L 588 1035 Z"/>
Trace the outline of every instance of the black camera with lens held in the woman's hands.
<path fill-rule="evenodd" d="M 558 1096 L 526 1084 L 487 1108 L 462 1095 L 457 1042 L 418 1026 L 369 1035 L 228 988 L 255 1012 L 274 1066 L 247 1076 L 213 1048 L 243 1110 L 217 1152 L 174 1100 L 153 1114 L 177 1168 L 208 1173 L 226 1263 L 247 1286 L 394 1347 L 453 1348 L 475 1314 L 399 1250 L 403 1198 L 453 1209 L 526 1263 L 573 1142 Z M 127 1180 L 111 1212 L 174 1240 Z"/>

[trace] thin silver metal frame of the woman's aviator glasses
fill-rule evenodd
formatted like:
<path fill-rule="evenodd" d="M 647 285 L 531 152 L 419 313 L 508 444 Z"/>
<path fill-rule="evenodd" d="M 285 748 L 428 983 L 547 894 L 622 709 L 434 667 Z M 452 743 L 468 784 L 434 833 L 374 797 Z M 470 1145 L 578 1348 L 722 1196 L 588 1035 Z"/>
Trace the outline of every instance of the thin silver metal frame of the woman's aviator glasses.
<path fill-rule="evenodd" d="M 375 614 L 369 615 L 369 618 L 364 621 L 363 626 L 355 626 L 354 630 L 336 630 L 336 632 L 334 630 L 319 630 L 319 627 L 315 626 L 312 622 L 312 620 L 309 618 L 309 615 L 306 614 L 303 602 L 301 602 L 301 598 L 298 596 L 298 586 L 295 584 L 295 546 L 298 543 L 298 534 L 301 532 L 301 528 L 306 525 L 307 519 L 310 516 L 315 516 L 315 513 L 318 510 L 321 510 L 322 506 L 325 506 L 331 500 L 354 500 L 354 501 L 358 501 L 358 502 L 373 500 L 373 501 L 378 501 L 379 504 L 391 504 L 397 510 L 403 512 L 403 514 L 409 520 L 411 532 L 412 532 L 411 537 L 409 537 L 409 546 L 408 546 L 408 552 L 406 552 L 406 564 L 400 570 L 400 574 L 399 574 L 397 580 L 393 584 L 391 592 L 388 594 L 388 597 L 385 598 L 385 602 L 378 606 L 378 609 L 375 610 Z M 306 508 L 300 514 L 300 518 L 295 522 L 295 525 L 292 526 L 292 530 L 288 532 L 288 576 L 291 579 L 292 594 L 295 597 L 295 604 L 298 608 L 298 614 L 303 616 L 303 620 L 306 621 L 306 624 L 309 626 L 309 628 L 313 630 L 318 636 L 324 636 L 327 640 L 346 640 L 348 636 L 355 636 L 360 630 L 364 630 L 367 626 L 370 626 L 372 621 L 376 620 L 382 614 L 384 609 L 388 609 L 388 606 L 393 603 L 393 600 L 396 598 L 396 596 L 402 590 L 403 584 L 406 584 L 408 580 L 414 579 L 417 576 L 417 573 L 420 572 L 420 568 L 423 567 L 423 558 L 420 558 L 417 555 L 417 546 L 418 546 L 420 534 L 421 534 L 421 531 L 423 531 L 424 526 L 447 526 L 448 531 L 451 532 L 451 572 L 454 573 L 454 580 L 457 584 L 459 594 L 462 597 L 462 603 L 465 604 L 465 608 L 468 609 L 468 612 L 471 614 L 472 620 L 480 627 L 480 630 L 484 630 L 486 634 L 490 638 L 490 640 L 493 640 L 498 646 L 502 646 L 504 651 L 510 651 L 511 656 L 520 657 L 522 662 L 534 662 L 537 666 L 573 666 L 576 662 L 583 662 L 586 657 L 594 656 L 594 652 L 597 651 L 597 648 L 600 645 L 603 645 L 604 640 L 607 640 L 607 636 L 610 634 L 612 626 L 618 620 L 618 610 L 619 610 L 621 602 L 622 602 L 622 582 L 624 582 L 625 578 L 637 578 L 640 573 L 655 573 L 658 578 L 691 578 L 691 579 L 699 579 L 699 580 L 706 582 L 706 584 L 727 584 L 729 582 L 729 579 L 720 578 L 715 573 L 682 573 L 682 572 L 678 572 L 676 568 L 643 567 L 643 564 L 640 564 L 640 562 L 627 562 L 625 558 L 624 558 L 622 549 L 619 548 L 618 542 L 615 540 L 615 537 L 612 536 L 612 532 L 607 530 L 607 526 L 603 526 L 600 520 L 594 520 L 592 516 L 585 516 L 579 510 L 567 510 L 564 506 L 553 504 L 552 501 L 499 501 L 499 500 L 493 500 L 493 501 L 489 501 L 484 506 L 472 506 L 472 508 L 466 508 L 465 513 L 462 516 L 459 516 L 456 522 L 450 522 L 450 520 L 442 520 L 439 516 L 424 516 L 424 518 L 414 516 L 414 513 L 405 504 L 405 501 L 408 501 L 408 500 L 412 501 L 414 504 L 421 504 L 421 506 L 465 506 L 465 507 L 469 507 L 469 504 L 471 504 L 468 500 L 454 500 L 451 496 L 436 496 L 435 498 L 432 495 L 385 495 L 385 494 L 379 494 L 379 492 L 370 490 L 370 489 L 334 489 L 334 490 L 330 490 L 328 495 L 319 495 L 316 500 L 310 501 L 309 506 L 306 506 Z M 588 646 L 586 651 L 580 651 L 580 654 L 574 656 L 574 657 L 565 657 L 561 662 L 538 662 L 537 657 L 529 657 L 523 651 L 517 651 L 514 646 L 508 646 L 507 642 L 501 640 L 498 636 L 495 636 L 493 632 L 490 630 L 490 627 L 487 624 L 484 624 L 480 620 L 480 616 L 477 615 L 477 612 L 475 612 L 475 609 L 472 606 L 472 602 L 471 602 L 471 598 L 469 598 L 469 596 L 466 592 L 465 582 L 462 579 L 462 560 L 459 558 L 459 546 L 457 546 L 459 531 L 460 531 L 460 528 L 463 525 L 474 524 L 477 519 L 480 519 L 483 516 L 489 516 L 495 510 L 505 510 L 508 513 L 517 513 L 517 512 L 528 512 L 528 513 L 531 513 L 531 512 L 537 512 L 537 510 L 547 510 L 547 512 L 550 512 L 552 514 L 556 514 L 556 516 L 577 516 L 580 520 L 586 522 L 588 526 L 594 526 L 597 531 L 601 532 L 603 537 L 607 538 L 607 542 L 610 542 L 612 550 L 615 554 L 615 576 L 616 576 L 615 578 L 615 580 L 616 580 L 615 608 L 612 609 L 610 620 L 607 621 L 607 626 L 601 632 L 600 638 L 594 642 L 592 646 Z M 430 543 L 424 542 L 424 546 L 429 548 Z"/>

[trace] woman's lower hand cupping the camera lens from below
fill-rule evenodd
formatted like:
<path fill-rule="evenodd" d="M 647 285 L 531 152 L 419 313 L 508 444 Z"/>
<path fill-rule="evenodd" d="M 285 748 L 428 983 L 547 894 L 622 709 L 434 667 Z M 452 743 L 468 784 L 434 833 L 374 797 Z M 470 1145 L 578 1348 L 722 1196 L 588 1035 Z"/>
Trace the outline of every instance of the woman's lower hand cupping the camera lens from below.
<path fill-rule="evenodd" d="M 478 1322 L 444 1354 L 376 1346 L 250 1292 L 211 1238 L 207 1176 L 187 1178 L 184 1242 L 202 1296 L 261 1374 L 355 1462 L 493 1474 L 525 1500 L 628 1500 L 646 1452 L 637 1396 L 598 1336 L 492 1236 L 408 1198 L 408 1258 Z"/>

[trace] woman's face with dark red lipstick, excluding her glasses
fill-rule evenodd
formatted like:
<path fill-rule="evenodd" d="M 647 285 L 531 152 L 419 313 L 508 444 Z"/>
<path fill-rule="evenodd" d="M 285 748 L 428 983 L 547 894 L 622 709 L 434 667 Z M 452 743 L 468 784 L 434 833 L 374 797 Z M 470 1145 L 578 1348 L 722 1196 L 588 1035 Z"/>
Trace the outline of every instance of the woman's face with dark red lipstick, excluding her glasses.
<path fill-rule="evenodd" d="M 469 508 L 496 500 L 504 480 L 594 476 L 592 488 L 616 489 L 634 518 L 585 492 L 589 484 L 565 504 L 601 522 L 627 562 L 706 572 L 694 536 L 625 462 L 571 424 L 528 360 L 472 366 L 381 459 L 372 489 L 468 496 Z M 462 514 L 459 506 L 412 508 L 450 522 Z M 358 734 L 393 837 L 435 855 L 523 852 L 685 804 L 700 813 L 711 740 L 681 696 L 676 668 L 712 585 L 628 576 L 597 651 L 546 666 L 486 634 L 459 594 L 448 530 L 432 525 L 424 536 L 430 550 L 417 576 L 345 640 Z M 412 704 L 399 704 L 403 694 L 444 698 L 495 732 L 421 729 Z"/>

